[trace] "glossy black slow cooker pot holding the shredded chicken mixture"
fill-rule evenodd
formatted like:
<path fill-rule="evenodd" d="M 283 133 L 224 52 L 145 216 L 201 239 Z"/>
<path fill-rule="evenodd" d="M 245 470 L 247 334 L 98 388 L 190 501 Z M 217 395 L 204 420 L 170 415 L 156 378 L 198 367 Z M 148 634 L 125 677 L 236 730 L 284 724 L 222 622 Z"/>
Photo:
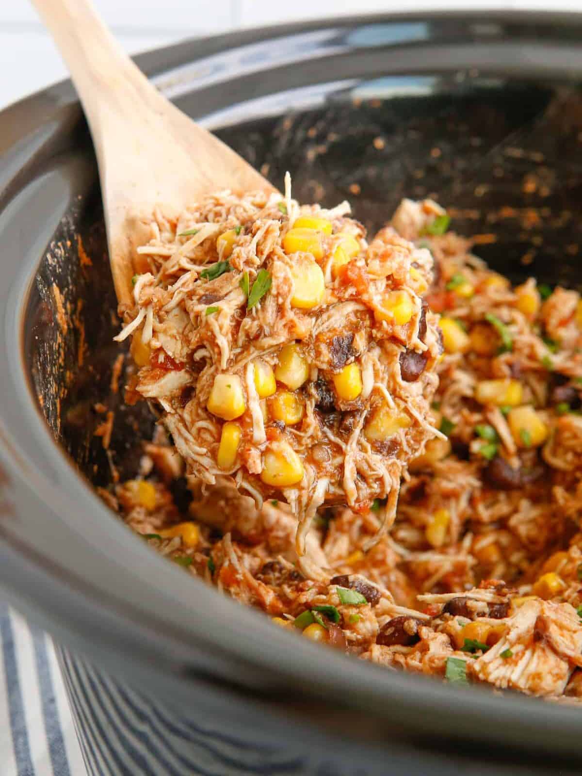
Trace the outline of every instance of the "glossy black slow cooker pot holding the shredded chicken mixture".
<path fill-rule="evenodd" d="M 493 235 L 495 268 L 576 286 L 581 34 L 577 15 L 368 17 L 139 64 L 275 185 L 289 169 L 298 199 L 351 199 L 377 227 L 402 196 L 438 196 L 457 230 Z M 153 420 L 110 390 L 119 322 L 71 85 L 0 114 L 0 153 L 0 581 L 61 645 L 90 773 L 577 772 L 576 708 L 290 638 L 108 511 L 94 487 L 135 471 Z"/>

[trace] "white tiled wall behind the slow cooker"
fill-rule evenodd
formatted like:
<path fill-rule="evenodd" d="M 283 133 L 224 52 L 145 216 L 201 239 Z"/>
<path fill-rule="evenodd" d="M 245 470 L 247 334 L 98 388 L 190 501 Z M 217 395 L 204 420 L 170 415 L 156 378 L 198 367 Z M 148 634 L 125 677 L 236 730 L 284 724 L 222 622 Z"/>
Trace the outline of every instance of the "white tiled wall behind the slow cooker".
<path fill-rule="evenodd" d="M 95 0 L 130 52 L 219 33 L 350 13 L 447 9 L 540 9 L 548 0 Z M 580 10 L 582 0 L 554 0 L 553 11 Z M 0 108 L 65 75 L 57 50 L 29 0 L 0 0 Z"/>

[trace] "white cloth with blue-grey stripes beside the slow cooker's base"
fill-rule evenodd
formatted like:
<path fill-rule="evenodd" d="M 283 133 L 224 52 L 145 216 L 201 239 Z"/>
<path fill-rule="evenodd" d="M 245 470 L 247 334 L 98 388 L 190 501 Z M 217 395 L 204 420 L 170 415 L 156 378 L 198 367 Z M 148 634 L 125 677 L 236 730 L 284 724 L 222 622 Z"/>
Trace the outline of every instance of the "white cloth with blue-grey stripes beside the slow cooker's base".
<path fill-rule="evenodd" d="M 54 646 L 0 604 L 0 774 L 85 776 Z"/>

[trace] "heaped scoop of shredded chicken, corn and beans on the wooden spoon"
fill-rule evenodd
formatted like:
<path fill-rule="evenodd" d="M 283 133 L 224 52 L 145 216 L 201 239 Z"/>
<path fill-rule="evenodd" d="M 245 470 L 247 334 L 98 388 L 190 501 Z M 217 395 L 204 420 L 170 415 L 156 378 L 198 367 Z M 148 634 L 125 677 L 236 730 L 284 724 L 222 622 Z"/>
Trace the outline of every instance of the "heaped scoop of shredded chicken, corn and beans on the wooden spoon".
<path fill-rule="evenodd" d="M 130 397 L 158 404 L 192 481 L 287 501 L 303 557 L 321 504 L 381 498 L 391 525 L 407 462 L 439 435 L 442 348 L 430 252 L 393 227 L 368 242 L 347 203 L 299 206 L 286 188 L 154 220 L 117 339 L 140 365 Z"/>

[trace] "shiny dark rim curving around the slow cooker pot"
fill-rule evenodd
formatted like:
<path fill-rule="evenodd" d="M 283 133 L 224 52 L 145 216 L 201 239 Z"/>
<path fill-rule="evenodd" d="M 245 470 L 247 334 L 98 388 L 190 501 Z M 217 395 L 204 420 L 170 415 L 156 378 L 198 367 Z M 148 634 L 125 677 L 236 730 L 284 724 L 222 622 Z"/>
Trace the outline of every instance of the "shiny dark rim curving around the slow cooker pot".
<path fill-rule="evenodd" d="M 564 76 L 582 74 L 580 57 L 574 65 L 570 56 L 570 44 L 574 45 L 576 38 L 580 40 L 582 31 L 582 15 L 577 12 L 443 10 L 351 16 L 185 41 L 140 54 L 136 59 L 144 71 L 156 75 L 158 85 L 174 88 L 174 95 L 179 99 L 183 92 L 192 89 L 189 66 L 196 63 L 199 67 L 212 57 L 220 59 L 225 50 L 270 44 L 271 55 L 276 60 L 277 41 L 289 38 L 300 43 L 307 38 L 314 47 L 313 55 L 317 56 L 318 51 L 322 54 L 323 48 L 317 40 L 324 40 L 327 45 L 338 31 L 343 36 L 341 40 L 345 40 L 347 32 L 353 33 L 363 27 L 382 25 L 395 29 L 397 26 L 402 28 L 404 23 L 437 24 L 447 31 L 456 30 L 459 34 L 462 31 L 466 45 L 470 43 L 475 49 L 471 35 L 477 36 L 477 42 L 481 40 L 481 33 L 476 31 L 476 23 L 480 22 L 483 23 L 483 40 L 488 45 L 494 42 L 501 47 L 514 45 L 503 36 L 513 25 L 535 33 L 535 40 L 530 42 L 540 43 L 546 51 L 550 43 L 555 43 L 557 50 L 568 50 L 566 59 L 570 64 L 566 66 L 561 61 L 557 64 L 553 61 L 549 68 L 551 73 L 557 68 Z M 490 30 L 498 26 L 498 39 L 494 32 L 487 33 L 485 24 Z M 317 38 L 320 33 L 329 35 Z M 406 43 L 414 44 L 414 40 L 404 38 L 398 45 Z M 449 44 L 447 46 L 450 48 Z M 466 56 L 466 49 L 459 51 Z M 516 63 L 516 68 L 523 67 L 523 62 Z M 23 192 L 26 194 L 27 186 L 32 185 L 43 169 L 42 165 L 54 158 L 55 148 L 64 142 L 64 135 L 56 138 L 50 134 L 39 145 L 39 131 L 57 121 L 61 130 L 67 132 L 76 122 L 73 116 L 78 116 L 78 111 L 71 83 L 63 81 L 0 113 L 0 127 L 16 123 L 26 130 L 18 143 L 9 140 L 2 149 L 8 153 L 0 159 L 0 219 Z M 66 143 L 65 147 L 70 151 L 70 137 Z M 15 158 L 19 160 L 16 168 Z M 0 236 L 2 234 L 0 223 Z M 113 558 L 115 563 L 110 567 L 116 573 L 111 577 L 105 573 L 80 576 L 67 557 L 61 556 L 58 563 L 54 563 L 54 559 L 47 556 L 46 547 L 30 534 L 29 523 L 26 523 L 27 534 L 19 535 L 8 520 L 2 521 L 0 583 L 19 608 L 113 673 L 120 671 L 122 653 L 126 659 L 130 658 L 130 675 L 135 681 L 151 682 L 161 694 L 171 693 L 173 702 L 189 703 L 189 690 L 193 684 L 196 684 L 197 692 L 201 684 L 204 685 L 210 695 L 218 688 L 221 697 L 227 695 L 233 699 L 233 708 L 237 702 L 247 703 L 259 697 L 263 700 L 279 698 L 282 692 L 296 699 L 300 688 L 300 695 L 313 698 L 314 705 L 320 702 L 324 708 L 334 702 L 343 708 L 365 710 L 367 715 L 390 723 L 396 717 L 401 728 L 417 733 L 455 735 L 466 740 L 479 737 L 497 743 L 528 743 L 542 747 L 545 746 L 540 741 L 543 733 L 550 742 L 547 748 L 561 746 L 568 753 L 577 753 L 579 718 L 573 709 L 559 705 L 549 707 L 521 696 L 499 700 L 480 688 L 456 691 L 427 677 L 386 671 L 331 650 L 321 650 L 307 639 L 291 639 L 281 629 L 274 628 L 263 615 L 224 598 L 199 580 L 189 580 L 187 586 L 180 584 L 183 577 L 178 574 L 182 571 L 173 568 L 147 546 L 141 546 L 74 472 L 36 407 L 26 378 L 23 316 L 39 257 L 37 253 L 36 259 L 31 258 L 23 269 L 19 268 L 19 272 L 12 272 L 12 275 L 10 269 L 6 269 L 10 278 L 6 285 L 11 287 L 12 284 L 16 296 L 13 294 L 12 300 L 0 296 L 0 319 L 6 322 L 2 345 L 11 362 L 4 376 L 5 385 L 20 393 L 22 405 L 22 417 L 17 425 L 7 394 L 4 390 L 0 392 L 0 463 L 11 483 L 4 493 L 11 503 L 13 501 L 16 523 L 19 518 L 26 523 L 26 509 L 36 504 L 42 510 L 43 521 L 59 532 L 64 532 L 65 526 L 69 533 L 82 532 L 77 514 L 77 504 L 82 503 L 87 515 L 82 529 L 88 532 L 81 537 L 85 540 L 84 551 L 99 553 L 100 550 L 103 563 L 106 563 L 106 555 L 110 556 L 109 563 Z M 34 444 L 40 445 L 43 454 L 50 458 L 50 469 L 39 469 L 33 462 L 22 431 L 33 435 Z M 103 546 L 99 548 L 99 538 L 101 542 L 109 539 L 107 553 Z M 120 594 L 120 590 L 123 593 Z M 350 662 L 346 663 L 346 660 Z M 122 663 L 123 674 L 127 676 L 125 667 L 126 663 Z M 154 674 L 159 681 L 153 681 Z M 168 677 L 173 681 L 166 683 Z M 420 726 L 419 709 L 422 709 Z"/>

